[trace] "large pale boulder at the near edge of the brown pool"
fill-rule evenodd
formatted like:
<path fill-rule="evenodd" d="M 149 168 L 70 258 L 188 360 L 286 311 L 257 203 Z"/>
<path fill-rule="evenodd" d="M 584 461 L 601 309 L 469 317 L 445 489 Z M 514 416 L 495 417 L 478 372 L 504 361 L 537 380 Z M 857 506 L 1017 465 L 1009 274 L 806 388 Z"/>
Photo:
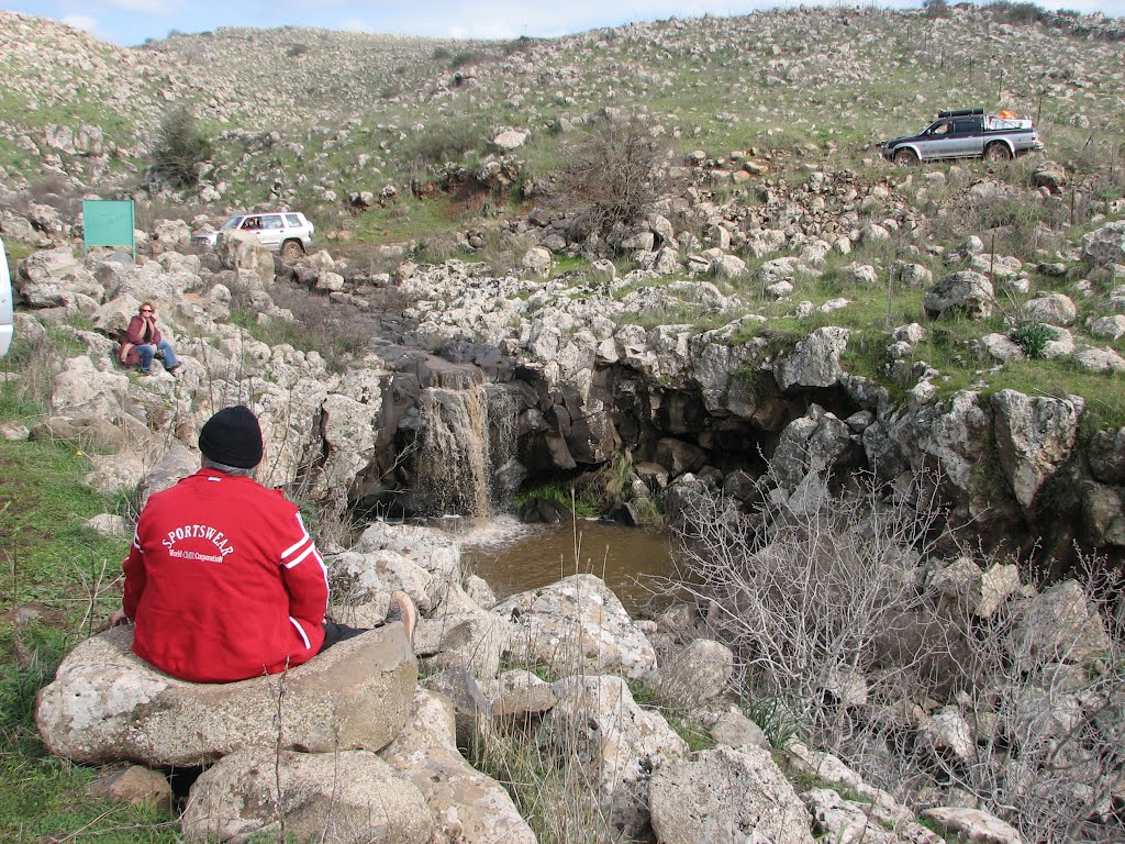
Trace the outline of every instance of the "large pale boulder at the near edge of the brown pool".
<path fill-rule="evenodd" d="M 516 663 L 656 679 L 656 652 L 613 591 L 592 574 L 575 574 L 521 592 L 493 612 L 512 622 L 507 655 Z"/>

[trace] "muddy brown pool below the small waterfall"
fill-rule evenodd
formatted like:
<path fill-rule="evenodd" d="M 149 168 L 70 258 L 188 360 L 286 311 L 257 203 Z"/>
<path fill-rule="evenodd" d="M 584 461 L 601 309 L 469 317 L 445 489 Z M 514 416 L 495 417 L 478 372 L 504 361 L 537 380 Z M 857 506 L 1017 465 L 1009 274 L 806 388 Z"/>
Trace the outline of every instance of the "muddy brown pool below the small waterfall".
<path fill-rule="evenodd" d="M 585 520 L 576 526 L 522 524 L 507 517 L 456 521 L 443 527 L 461 544 L 466 566 L 484 577 L 497 598 L 590 573 L 604 580 L 636 614 L 654 603 L 651 578 L 675 575 L 668 542 L 657 533 Z"/>

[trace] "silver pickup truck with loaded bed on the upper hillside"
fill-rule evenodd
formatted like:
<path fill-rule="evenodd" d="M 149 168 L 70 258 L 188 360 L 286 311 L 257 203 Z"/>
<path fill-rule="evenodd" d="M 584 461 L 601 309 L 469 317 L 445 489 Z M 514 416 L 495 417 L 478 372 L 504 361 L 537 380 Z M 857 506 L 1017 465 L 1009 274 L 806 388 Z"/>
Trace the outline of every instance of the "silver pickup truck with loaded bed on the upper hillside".
<path fill-rule="evenodd" d="M 897 137 L 882 145 L 883 158 L 900 167 L 938 159 L 980 159 L 1007 161 L 1023 152 L 1042 150 L 1035 124 L 1001 111 L 983 108 L 938 111 L 927 129 Z"/>

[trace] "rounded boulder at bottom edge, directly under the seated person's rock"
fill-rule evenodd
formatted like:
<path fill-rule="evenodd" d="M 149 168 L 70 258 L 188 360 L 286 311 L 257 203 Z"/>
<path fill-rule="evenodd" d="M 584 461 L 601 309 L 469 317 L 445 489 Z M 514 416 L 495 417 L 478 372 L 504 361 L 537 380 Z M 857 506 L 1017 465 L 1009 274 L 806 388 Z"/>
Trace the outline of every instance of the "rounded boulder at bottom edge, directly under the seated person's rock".
<path fill-rule="evenodd" d="M 433 814 L 417 787 L 369 751 L 298 753 L 248 747 L 191 787 L 180 820 L 189 844 L 316 841 L 431 844 Z"/>

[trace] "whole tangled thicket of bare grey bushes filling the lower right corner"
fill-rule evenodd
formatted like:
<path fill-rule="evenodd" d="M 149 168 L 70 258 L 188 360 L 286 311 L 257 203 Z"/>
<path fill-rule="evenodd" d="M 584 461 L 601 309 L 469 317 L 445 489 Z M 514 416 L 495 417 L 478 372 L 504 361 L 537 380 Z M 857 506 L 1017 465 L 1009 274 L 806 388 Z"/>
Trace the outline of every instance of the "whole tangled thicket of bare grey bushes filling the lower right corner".
<path fill-rule="evenodd" d="M 986 601 L 1001 564 L 938 557 L 955 537 L 932 478 L 909 496 L 852 483 L 812 506 L 782 501 L 772 473 L 759 486 L 753 515 L 686 496 L 676 584 L 710 605 L 752 713 L 900 798 L 952 791 L 1028 841 L 1120 839 L 1125 661 L 1105 560 L 1038 594 L 1005 566 L 1007 591 Z"/>

